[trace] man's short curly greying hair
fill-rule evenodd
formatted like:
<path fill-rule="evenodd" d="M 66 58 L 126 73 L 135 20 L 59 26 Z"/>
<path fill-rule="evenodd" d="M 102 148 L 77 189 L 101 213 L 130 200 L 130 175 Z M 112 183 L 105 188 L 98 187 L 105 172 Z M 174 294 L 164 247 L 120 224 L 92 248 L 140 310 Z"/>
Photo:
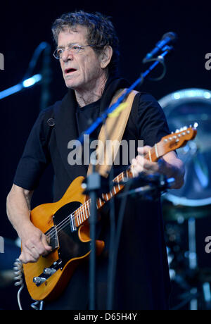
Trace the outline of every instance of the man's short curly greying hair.
<path fill-rule="evenodd" d="M 120 58 L 119 39 L 110 17 L 98 12 L 75 11 L 74 13 L 65 13 L 55 20 L 51 28 L 56 44 L 58 44 L 58 35 L 61 31 L 67 28 L 72 30 L 76 25 L 87 27 L 87 42 L 93 46 L 97 54 L 103 51 L 104 46 L 113 48 L 113 56 L 108 65 L 108 74 L 117 76 Z"/>

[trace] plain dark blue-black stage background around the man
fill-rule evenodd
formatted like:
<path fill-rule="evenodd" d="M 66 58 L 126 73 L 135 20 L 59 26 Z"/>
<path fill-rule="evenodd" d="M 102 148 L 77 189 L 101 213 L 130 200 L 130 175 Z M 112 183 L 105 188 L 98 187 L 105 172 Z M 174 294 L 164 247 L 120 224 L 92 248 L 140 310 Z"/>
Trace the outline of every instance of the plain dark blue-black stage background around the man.
<path fill-rule="evenodd" d="M 189 3 L 189 1 L 187 1 Z M 146 81 L 143 91 L 156 99 L 179 89 L 203 88 L 211 90 L 211 70 L 205 69 L 205 54 L 211 52 L 210 11 L 211 6 L 202 1 L 37 1 L 24 4 L 8 2 L 1 8 L 0 52 L 4 54 L 4 70 L 0 70 L 0 92 L 22 80 L 41 42 L 51 44 L 51 25 L 62 13 L 83 9 L 100 11 L 113 17 L 120 37 L 122 76 L 134 82 L 145 70 L 143 57 L 151 51 L 166 32 L 176 32 L 179 39 L 174 54 L 167 58 L 167 74 L 160 82 Z M 39 73 L 41 55 L 34 70 Z M 66 89 L 58 62 L 51 56 L 51 85 L 49 105 L 60 100 Z M 11 189 L 18 160 L 25 141 L 40 109 L 41 85 L 14 94 L 0 101 L 1 106 L 1 226 L 0 236 L 15 239 L 16 234 L 6 218 L 6 196 Z M 34 195 L 33 206 L 51 201 L 51 168 L 41 180 Z M 207 222 L 207 220 L 206 220 Z M 210 225 L 210 219 L 207 226 Z M 211 235 L 211 226 L 210 226 Z M 210 256 L 211 258 L 211 256 Z M 209 263 L 209 261 L 206 261 Z M 0 286 L 0 308 L 17 309 L 17 289 Z"/>

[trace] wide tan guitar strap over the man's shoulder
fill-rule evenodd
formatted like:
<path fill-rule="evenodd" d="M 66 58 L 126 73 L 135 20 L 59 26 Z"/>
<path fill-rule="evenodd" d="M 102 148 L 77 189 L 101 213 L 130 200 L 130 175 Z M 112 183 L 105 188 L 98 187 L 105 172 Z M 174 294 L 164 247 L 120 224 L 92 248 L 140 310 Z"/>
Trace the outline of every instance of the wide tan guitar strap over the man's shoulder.
<path fill-rule="evenodd" d="M 113 96 L 110 106 L 112 106 L 125 91 L 126 89 L 118 90 L 115 96 Z M 108 173 L 115 161 L 132 109 L 134 96 L 137 93 L 138 92 L 134 90 L 130 92 L 122 104 L 116 108 L 115 112 L 108 115 L 106 123 L 101 127 L 101 131 L 98 135 L 98 147 L 96 148 L 96 172 L 103 177 L 108 177 Z M 91 172 L 92 165 L 90 163 L 87 175 Z"/>

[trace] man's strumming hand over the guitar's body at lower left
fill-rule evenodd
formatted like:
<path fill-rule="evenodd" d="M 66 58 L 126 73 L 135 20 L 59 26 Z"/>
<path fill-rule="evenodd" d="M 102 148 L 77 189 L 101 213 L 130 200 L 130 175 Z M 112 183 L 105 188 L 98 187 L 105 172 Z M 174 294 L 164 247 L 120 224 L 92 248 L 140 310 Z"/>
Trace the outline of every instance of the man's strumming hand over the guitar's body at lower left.
<path fill-rule="evenodd" d="M 45 256 L 51 251 L 46 235 L 32 223 L 20 233 L 20 239 L 22 251 L 19 259 L 23 263 L 37 262 L 40 256 Z"/>

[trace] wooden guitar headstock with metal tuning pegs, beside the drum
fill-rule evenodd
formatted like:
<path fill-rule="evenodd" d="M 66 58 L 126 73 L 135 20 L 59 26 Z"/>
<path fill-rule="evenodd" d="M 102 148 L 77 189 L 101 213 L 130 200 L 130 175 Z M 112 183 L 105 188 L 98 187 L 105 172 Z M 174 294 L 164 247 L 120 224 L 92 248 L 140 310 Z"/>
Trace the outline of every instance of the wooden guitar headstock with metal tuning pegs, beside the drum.
<path fill-rule="evenodd" d="M 188 141 L 194 139 L 197 135 L 197 127 L 198 123 L 195 123 L 193 126 L 182 127 L 180 130 L 176 130 L 176 132 L 162 137 L 160 144 L 162 144 L 162 149 L 165 150 L 165 154 L 169 151 L 179 149 L 179 147 L 184 147 Z"/>

